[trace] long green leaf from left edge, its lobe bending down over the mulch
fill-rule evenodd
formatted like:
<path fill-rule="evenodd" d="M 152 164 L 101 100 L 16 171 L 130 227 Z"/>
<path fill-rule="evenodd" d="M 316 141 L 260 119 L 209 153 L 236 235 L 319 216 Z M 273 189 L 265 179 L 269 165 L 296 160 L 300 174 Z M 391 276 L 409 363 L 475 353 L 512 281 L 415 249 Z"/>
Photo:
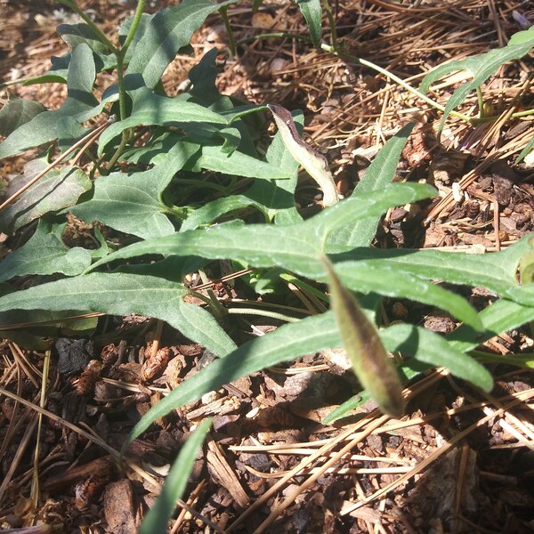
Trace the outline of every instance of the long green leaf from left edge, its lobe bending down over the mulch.
<path fill-rule="evenodd" d="M 224 356 L 235 348 L 231 338 L 206 310 L 183 302 L 182 284 L 151 276 L 93 273 L 30 287 L 0 298 L 0 312 L 50 310 L 101 312 L 110 315 L 139 313 L 165 320 L 192 341 Z"/>

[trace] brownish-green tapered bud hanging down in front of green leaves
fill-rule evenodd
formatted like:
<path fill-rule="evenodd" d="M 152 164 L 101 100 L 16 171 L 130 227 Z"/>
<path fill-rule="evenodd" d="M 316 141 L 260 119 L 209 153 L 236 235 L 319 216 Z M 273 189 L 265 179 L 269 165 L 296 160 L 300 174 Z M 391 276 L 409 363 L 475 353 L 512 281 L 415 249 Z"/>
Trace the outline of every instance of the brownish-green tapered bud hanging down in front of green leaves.
<path fill-rule="evenodd" d="M 376 328 L 352 293 L 343 287 L 326 257 L 323 263 L 328 271 L 330 303 L 354 373 L 384 413 L 401 417 L 404 412 L 401 381 Z"/>

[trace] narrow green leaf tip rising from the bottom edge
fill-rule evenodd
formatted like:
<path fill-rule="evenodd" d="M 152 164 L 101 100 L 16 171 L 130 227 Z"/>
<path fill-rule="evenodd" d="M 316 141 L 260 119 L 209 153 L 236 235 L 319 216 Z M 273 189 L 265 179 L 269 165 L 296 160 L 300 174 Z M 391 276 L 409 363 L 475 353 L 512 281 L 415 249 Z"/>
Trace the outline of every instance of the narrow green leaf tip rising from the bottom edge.
<path fill-rule="evenodd" d="M 163 490 L 150 508 L 149 513 L 142 520 L 139 534 L 163 534 L 166 532 L 167 523 L 174 513 L 178 499 L 182 498 L 189 473 L 197 459 L 198 449 L 206 439 L 206 433 L 211 423 L 211 419 L 202 421 L 197 430 L 191 433 L 183 443 L 182 449 L 180 449 L 180 453 L 166 477 Z"/>

